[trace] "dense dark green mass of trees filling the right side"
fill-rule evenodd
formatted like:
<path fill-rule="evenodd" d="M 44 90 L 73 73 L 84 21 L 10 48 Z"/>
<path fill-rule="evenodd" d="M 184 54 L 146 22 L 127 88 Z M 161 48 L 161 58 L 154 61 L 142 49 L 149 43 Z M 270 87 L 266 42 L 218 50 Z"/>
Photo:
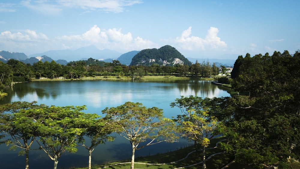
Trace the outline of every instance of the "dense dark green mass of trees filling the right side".
<path fill-rule="evenodd" d="M 255 167 L 286 167 L 300 158 L 300 54 L 274 52 L 238 57 L 232 87 L 235 96 L 226 131 L 237 161 Z M 293 149 L 295 147 L 295 149 Z"/>

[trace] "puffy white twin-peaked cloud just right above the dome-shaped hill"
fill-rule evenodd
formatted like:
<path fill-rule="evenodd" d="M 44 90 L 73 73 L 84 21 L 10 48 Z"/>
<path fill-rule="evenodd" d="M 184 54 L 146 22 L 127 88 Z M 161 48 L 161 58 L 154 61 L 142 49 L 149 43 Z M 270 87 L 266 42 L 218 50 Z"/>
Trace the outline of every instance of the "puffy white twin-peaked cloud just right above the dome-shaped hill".
<path fill-rule="evenodd" d="M 215 27 L 210 27 L 207 31 L 207 35 L 205 38 L 200 38 L 197 36 L 193 36 L 192 27 L 190 26 L 188 29 L 184 30 L 180 37 L 176 39 L 171 39 L 170 41 L 175 41 L 177 45 L 183 50 L 223 50 L 226 48 L 226 43 L 221 41 L 220 37 L 217 36 L 219 29 Z"/>

